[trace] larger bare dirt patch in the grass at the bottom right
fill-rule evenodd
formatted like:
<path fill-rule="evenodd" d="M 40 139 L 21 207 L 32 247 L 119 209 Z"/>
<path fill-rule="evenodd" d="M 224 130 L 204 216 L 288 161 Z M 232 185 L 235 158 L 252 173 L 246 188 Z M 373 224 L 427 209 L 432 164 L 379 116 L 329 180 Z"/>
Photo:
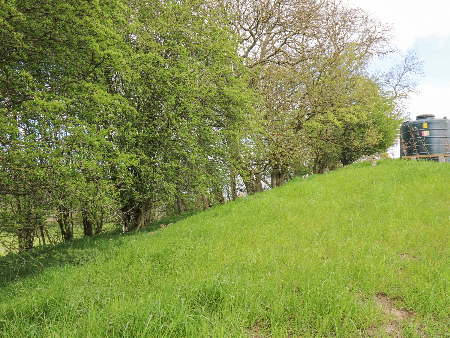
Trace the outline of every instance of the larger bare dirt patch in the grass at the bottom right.
<path fill-rule="evenodd" d="M 402 324 L 412 321 L 414 314 L 404 309 L 398 309 L 392 299 L 384 293 L 377 293 L 374 300 L 389 321 L 381 328 L 369 328 L 367 331 L 369 337 L 380 338 L 383 337 L 382 333 L 385 333 L 388 337 L 402 338 Z M 418 333 L 424 338 L 428 337 L 426 333 L 421 333 L 420 329 L 418 329 Z"/>

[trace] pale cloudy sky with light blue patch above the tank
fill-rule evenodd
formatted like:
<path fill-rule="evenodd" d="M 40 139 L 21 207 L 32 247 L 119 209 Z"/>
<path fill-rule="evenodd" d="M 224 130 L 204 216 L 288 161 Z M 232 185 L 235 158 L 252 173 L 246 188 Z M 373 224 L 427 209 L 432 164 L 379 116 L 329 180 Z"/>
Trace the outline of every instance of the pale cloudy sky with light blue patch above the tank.
<path fill-rule="evenodd" d="M 347 3 L 391 26 L 396 46 L 403 52 L 416 48 L 423 60 L 424 78 L 417 87 L 419 93 L 408 102 L 410 119 L 420 114 L 450 116 L 450 1 L 347 0 Z"/>

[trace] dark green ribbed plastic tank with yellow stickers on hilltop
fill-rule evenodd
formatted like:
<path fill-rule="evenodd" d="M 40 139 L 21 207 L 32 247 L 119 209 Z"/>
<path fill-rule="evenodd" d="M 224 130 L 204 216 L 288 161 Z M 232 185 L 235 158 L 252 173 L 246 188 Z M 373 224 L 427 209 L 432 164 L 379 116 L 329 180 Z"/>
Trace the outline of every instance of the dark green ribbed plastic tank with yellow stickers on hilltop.
<path fill-rule="evenodd" d="M 400 127 L 400 157 L 411 155 L 450 154 L 450 120 L 423 114 Z M 446 157 L 450 162 L 450 157 Z M 438 160 L 433 158 L 432 160 Z"/>

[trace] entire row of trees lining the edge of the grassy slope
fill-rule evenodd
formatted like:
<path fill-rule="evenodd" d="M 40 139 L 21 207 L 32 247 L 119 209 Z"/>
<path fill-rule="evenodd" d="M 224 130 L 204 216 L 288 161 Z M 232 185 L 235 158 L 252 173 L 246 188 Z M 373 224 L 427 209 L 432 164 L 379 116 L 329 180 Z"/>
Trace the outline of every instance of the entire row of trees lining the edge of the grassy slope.
<path fill-rule="evenodd" d="M 327 0 L 13 0 L 0 44 L 8 250 L 385 152 L 421 71 L 410 52 L 370 73 L 389 28 Z"/>

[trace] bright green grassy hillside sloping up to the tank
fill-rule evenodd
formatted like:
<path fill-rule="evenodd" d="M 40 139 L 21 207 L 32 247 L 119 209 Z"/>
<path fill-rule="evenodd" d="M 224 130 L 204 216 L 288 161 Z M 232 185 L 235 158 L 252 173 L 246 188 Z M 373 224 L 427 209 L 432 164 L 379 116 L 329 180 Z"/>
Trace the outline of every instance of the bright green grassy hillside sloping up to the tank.
<path fill-rule="evenodd" d="M 52 259 L 67 264 L 3 270 L 0 335 L 448 337 L 449 178 L 447 164 L 354 164 L 66 244 Z"/>

